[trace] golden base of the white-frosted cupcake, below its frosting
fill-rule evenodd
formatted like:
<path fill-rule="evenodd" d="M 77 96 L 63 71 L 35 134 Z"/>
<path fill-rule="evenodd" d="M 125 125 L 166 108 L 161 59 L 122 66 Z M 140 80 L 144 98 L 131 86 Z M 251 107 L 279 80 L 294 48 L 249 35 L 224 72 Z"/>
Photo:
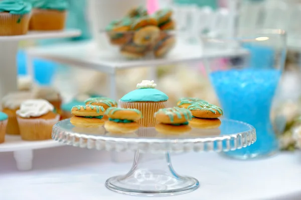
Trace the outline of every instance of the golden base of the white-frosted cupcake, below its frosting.
<path fill-rule="evenodd" d="M 54 119 L 24 119 L 17 117 L 20 134 L 23 140 L 49 140 L 51 139 L 52 127 L 60 120 L 60 115 Z"/>

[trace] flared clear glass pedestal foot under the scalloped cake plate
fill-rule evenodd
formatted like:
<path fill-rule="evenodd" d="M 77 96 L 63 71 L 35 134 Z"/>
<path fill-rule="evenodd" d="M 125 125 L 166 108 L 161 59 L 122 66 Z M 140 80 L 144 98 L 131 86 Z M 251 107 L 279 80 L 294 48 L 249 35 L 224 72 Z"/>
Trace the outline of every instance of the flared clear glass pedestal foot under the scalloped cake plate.
<path fill-rule="evenodd" d="M 107 179 L 105 186 L 118 193 L 143 196 L 183 194 L 199 187 L 197 179 L 175 172 L 169 152 L 155 166 L 148 165 L 148 157 L 150 154 L 136 151 L 130 171 Z"/>

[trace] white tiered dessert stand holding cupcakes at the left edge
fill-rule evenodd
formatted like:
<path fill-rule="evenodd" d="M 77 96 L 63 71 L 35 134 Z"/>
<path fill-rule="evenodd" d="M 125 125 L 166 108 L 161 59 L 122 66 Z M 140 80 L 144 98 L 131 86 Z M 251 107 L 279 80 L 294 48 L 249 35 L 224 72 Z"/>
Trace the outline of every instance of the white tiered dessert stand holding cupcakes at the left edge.
<path fill-rule="evenodd" d="M 0 99 L 9 92 L 17 91 L 17 62 L 19 41 L 70 38 L 81 34 L 79 30 L 63 31 L 30 31 L 26 35 L 0 36 Z M 31 69 L 31 68 L 30 68 Z M 29 72 L 32 74 L 32 72 Z M 5 143 L 0 144 L 1 152 L 14 152 L 14 157 L 19 170 L 32 169 L 33 150 L 56 147 L 53 140 L 48 141 L 23 141 L 20 136 L 6 136 Z"/>

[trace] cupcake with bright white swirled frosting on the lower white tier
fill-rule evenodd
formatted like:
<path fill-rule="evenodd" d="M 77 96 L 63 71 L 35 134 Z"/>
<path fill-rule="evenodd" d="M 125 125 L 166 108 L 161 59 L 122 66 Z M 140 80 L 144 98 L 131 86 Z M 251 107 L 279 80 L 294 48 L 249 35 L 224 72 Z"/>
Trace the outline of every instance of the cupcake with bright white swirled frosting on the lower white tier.
<path fill-rule="evenodd" d="M 60 115 L 53 111 L 54 106 L 45 99 L 24 101 L 16 112 L 22 139 L 51 139 L 52 127 L 60 120 Z"/>

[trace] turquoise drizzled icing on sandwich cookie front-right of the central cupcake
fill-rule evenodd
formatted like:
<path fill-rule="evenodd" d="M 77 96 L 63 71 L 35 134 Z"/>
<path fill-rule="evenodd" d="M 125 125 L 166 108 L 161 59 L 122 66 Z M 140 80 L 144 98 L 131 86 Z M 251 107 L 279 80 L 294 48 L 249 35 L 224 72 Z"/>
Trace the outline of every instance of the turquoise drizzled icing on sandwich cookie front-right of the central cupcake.
<path fill-rule="evenodd" d="M 155 113 L 155 117 L 159 113 L 163 113 L 167 115 L 170 118 L 171 122 L 174 122 L 175 116 L 177 116 L 179 119 L 182 119 L 182 115 L 184 115 L 184 118 L 187 121 L 192 119 L 191 112 L 188 109 L 184 109 L 184 108 L 174 107 L 168 109 L 160 109 L 157 113 Z"/>

